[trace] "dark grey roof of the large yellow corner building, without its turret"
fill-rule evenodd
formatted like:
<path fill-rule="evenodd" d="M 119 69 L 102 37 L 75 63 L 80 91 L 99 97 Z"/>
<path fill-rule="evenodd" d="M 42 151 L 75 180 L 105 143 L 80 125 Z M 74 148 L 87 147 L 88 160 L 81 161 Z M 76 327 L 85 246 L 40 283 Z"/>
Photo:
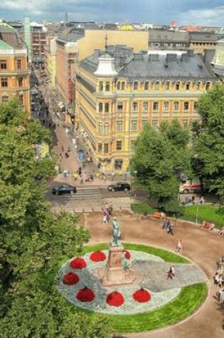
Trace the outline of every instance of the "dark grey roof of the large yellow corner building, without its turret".
<path fill-rule="evenodd" d="M 175 53 L 159 55 L 148 52 L 134 53 L 132 48 L 108 46 L 114 49 L 115 69 L 119 77 L 129 82 L 134 80 L 191 80 L 215 81 L 216 76 L 206 66 L 201 56 L 191 52 L 177 55 Z M 109 52 L 109 51 L 108 51 Z M 98 66 L 99 51 L 80 62 L 80 67 L 94 73 Z M 101 56 L 100 56 L 101 58 Z"/>

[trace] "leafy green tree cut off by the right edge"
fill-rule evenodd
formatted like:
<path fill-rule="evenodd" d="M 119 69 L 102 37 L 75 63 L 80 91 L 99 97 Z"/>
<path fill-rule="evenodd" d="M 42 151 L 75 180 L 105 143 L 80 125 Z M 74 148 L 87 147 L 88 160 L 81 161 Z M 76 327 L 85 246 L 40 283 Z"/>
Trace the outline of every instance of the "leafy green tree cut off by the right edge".
<path fill-rule="evenodd" d="M 201 123 L 193 128 L 193 169 L 224 196 L 224 85 L 218 83 L 201 96 L 198 112 Z"/>

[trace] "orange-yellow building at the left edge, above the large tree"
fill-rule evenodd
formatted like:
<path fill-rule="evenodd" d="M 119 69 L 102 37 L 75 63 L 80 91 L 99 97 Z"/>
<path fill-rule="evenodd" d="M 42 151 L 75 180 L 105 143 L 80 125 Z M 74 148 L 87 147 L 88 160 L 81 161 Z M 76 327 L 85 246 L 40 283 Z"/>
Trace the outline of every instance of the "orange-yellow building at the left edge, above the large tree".
<path fill-rule="evenodd" d="M 31 112 L 30 75 L 26 48 L 14 47 L 0 40 L 0 102 L 18 97 Z"/>

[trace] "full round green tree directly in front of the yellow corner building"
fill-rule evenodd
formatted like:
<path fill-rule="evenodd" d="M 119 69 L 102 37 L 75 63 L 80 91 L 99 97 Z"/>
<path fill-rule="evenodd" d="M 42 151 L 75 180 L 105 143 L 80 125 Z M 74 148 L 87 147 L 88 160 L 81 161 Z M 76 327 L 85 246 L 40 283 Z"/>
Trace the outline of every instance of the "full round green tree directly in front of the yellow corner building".
<path fill-rule="evenodd" d="M 149 194 L 157 196 L 158 206 L 164 211 L 171 212 L 173 206 L 176 212 L 178 208 L 178 175 L 181 171 L 190 171 L 187 142 L 188 135 L 178 122 L 162 124 L 161 132 L 147 126 L 137 138 L 132 171 L 137 171 L 139 184 L 146 186 Z M 169 210 L 166 210 L 166 206 L 169 206 Z"/>

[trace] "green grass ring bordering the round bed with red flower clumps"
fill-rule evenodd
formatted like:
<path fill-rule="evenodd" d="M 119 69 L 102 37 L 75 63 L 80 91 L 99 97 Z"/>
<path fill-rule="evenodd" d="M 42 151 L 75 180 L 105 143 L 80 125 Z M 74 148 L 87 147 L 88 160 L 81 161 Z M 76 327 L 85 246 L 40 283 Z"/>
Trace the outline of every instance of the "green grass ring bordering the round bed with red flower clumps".
<path fill-rule="evenodd" d="M 84 253 L 91 252 L 94 250 L 106 250 L 107 244 L 87 245 L 83 248 Z M 146 253 L 158 255 L 159 257 L 171 263 L 188 263 L 188 260 L 170 253 L 169 251 L 148 247 L 146 245 L 137 245 L 124 243 L 124 247 L 129 250 L 139 250 Z M 151 310 L 136 315 L 104 315 L 107 319 L 112 322 L 112 327 L 115 332 L 146 332 L 152 329 L 158 329 L 167 325 L 175 324 L 190 316 L 195 312 L 198 307 L 206 300 L 207 296 L 206 283 L 199 283 L 195 285 L 188 285 L 182 287 L 180 295 L 176 299 L 168 304 L 159 307 L 156 310 Z M 73 307 L 68 303 L 70 310 L 81 311 L 90 315 L 92 319 L 97 316 L 96 312 L 90 312 L 82 310 L 78 307 Z"/>

